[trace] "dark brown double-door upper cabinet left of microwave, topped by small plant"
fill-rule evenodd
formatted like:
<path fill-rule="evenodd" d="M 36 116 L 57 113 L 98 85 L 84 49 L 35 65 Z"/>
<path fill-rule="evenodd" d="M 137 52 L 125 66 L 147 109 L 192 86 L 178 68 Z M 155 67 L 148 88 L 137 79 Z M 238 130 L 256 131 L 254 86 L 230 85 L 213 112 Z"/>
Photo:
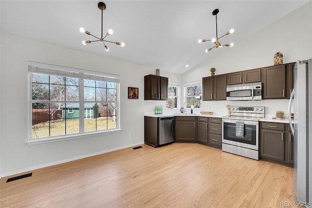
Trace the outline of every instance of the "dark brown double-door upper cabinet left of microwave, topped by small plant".
<path fill-rule="evenodd" d="M 202 78 L 203 101 L 226 100 L 226 74 Z"/>

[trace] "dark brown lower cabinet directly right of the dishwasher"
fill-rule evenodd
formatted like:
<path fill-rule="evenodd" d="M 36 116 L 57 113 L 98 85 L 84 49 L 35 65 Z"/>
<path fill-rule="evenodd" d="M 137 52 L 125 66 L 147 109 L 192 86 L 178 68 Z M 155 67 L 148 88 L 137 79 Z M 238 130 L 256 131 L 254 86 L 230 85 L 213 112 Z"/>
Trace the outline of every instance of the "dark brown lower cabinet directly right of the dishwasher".
<path fill-rule="evenodd" d="M 176 117 L 176 141 L 180 142 L 196 141 L 196 117 L 192 116 Z"/>

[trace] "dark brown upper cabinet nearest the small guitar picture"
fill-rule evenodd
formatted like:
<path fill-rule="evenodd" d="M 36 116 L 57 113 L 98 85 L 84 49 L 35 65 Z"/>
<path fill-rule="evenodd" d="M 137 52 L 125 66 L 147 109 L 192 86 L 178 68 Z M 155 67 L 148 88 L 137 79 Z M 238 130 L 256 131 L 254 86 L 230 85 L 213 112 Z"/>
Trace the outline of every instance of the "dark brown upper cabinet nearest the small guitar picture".
<path fill-rule="evenodd" d="M 168 78 L 156 75 L 144 76 L 144 100 L 167 100 Z"/>

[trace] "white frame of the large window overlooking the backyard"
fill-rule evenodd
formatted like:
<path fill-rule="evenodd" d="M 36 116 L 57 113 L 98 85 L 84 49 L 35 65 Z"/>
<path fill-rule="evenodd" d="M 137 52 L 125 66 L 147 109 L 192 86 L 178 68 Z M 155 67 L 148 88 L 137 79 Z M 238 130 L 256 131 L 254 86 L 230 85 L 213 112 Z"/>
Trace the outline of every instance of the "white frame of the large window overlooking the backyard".
<path fill-rule="evenodd" d="M 79 106 L 84 106 L 84 104 L 90 103 L 88 101 L 84 101 L 84 96 L 83 96 L 84 95 L 84 85 L 83 85 L 84 79 L 116 83 L 116 101 L 113 102 L 113 103 L 116 103 L 116 107 L 117 107 L 116 128 L 101 129 L 101 130 L 94 130 L 94 131 L 84 131 L 84 122 L 81 122 L 81 121 L 84 121 L 84 110 L 83 110 L 84 107 L 83 107 L 83 108 L 81 108 L 82 110 L 79 110 L 79 132 L 78 133 L 33 138 L 33 135 L 32 135 L 32 126 L 33 126 L 32 125 L 32 111 L 33 111 L 32 74 L 33 73 L 35 73 L 35 74 L 47 74 L 47 75 L 56 75 L 55 73 L 59 73 L 56 76 L 78 78 L 78 80 L 79 80 L 79 101 L 64 101 L 64 102 L 65 103 L 79 103 Z M 77 69 L 77 68 L 71 68 L 71 67 L 65 67 L 65 66 L 38 63 L 38 62 L 28 62 L 28 139 L 25 143 L 27 145 L 34 145 L 34 144 L 42 144 L 42 143 L 49 143 L 49 142 L 55 142 L 55 141 L 63 141 L 63 140 L 69 140 L 69 139 L 83 138 L 83 137 L 86 137 L 89 135 L 94 136 L 94 135 L 121 132 L 121 128 L 120 128 L 120 89 L 119 89 L 120 88 L 120 78 L 119 77 L 120 76 L 116 75 L 116 74 L 107 74 L 107 73 L 102 73 L 102 72 L 89 71 L 89 70 L 83 70 L 83 69 Z M 101 79 L 103 79 L 103 80 L 101 80 Z M 37 101 L 35 101 L 35 102 L 37 102 Z M 94 103 L 97 103 L 97 102 L 94 101 Z M 112 102 L 106 101 L 106 103 L 112 103 Z"/>

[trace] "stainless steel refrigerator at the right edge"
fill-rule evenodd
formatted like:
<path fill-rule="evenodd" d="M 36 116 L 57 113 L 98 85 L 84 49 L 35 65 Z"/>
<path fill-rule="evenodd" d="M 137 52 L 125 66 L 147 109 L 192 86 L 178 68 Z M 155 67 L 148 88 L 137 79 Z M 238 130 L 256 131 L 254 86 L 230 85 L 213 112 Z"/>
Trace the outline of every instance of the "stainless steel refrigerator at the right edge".
<path fill-rule="evenodd" d="M 293 124 L 289 118 L 294 136 L 293 189 L 297 202 L 312 207 L 312 59 L 294 65 L 289 115 L 292 104 Z"/>

